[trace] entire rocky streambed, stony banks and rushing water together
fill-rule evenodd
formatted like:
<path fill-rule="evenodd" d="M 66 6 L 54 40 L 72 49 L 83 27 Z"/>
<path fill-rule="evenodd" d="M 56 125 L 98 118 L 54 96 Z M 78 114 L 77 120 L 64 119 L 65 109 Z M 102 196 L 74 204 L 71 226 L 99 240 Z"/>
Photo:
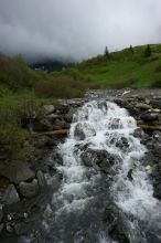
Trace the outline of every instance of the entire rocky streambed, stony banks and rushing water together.
<path fill-rule="evenodd" d="M 26 123 L 39 159 L 0 165 L 0 242 L 161 242 L 161 91 L 92 91 Z"/>

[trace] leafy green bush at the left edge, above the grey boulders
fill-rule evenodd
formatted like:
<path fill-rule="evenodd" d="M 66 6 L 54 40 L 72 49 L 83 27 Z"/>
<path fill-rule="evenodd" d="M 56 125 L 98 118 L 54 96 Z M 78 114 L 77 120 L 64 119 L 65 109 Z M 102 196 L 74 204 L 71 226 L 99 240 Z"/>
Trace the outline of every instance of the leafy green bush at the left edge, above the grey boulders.
<path fill-rule="evenodd" d="M 33 150 L 28 133 L 21 128 L 19 107 L 0 101 L 0 160 L 28 160 Z"/>

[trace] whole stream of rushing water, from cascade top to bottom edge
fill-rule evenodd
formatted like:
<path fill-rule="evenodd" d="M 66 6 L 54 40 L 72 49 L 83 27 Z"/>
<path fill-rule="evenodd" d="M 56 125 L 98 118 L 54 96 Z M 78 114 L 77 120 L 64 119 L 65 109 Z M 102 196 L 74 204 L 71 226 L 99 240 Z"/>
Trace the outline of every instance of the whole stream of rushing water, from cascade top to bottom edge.
<path fill-rule="evenodd" d="M 161 204 L 136 129 L 111 102 L 92 101 L 77 110 L 58 146 L 63 181 L 43 213 L 42 242 L 161 242 Z"/>

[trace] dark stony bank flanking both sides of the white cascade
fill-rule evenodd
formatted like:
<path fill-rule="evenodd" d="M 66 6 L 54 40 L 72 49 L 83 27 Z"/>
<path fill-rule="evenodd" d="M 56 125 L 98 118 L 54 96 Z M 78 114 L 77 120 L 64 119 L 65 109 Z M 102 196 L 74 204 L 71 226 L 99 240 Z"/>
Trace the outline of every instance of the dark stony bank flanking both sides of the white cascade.
<path fill-rule="evenodd" d="M 13 239 L 14 242 L 20 242 L 21 236 L 25 234 L 32 234 L 33 239 L 40 239 L 40 242 L 43 242 L 42 234 L 44 230 L 40 226 L 40 222 L 44 220 L 44 213 L 42 212 L 45 212 L 45 216 L 49 219 L 54 216 L 53 212 L 50 211 L 49 203 L 53 193 L 56 193 L 61 187 L 63 179 L 63 175 L 57 170 L 57 165 L 61 166 L 63 163 L 60 154 L 57 154 L 57 146 L 65 140 L 73 115 L 77 108 L 93 99 L 115 102 L 135 117 L 138 128 L 133 135 L 148 149 L 142 159 L 142 165 L 150 170 L 149 178 L 154 188 L 154 198 L 161 199 L 161 91 L 92 91 L 83 99 L 61 101 L 61 105 L 57 107 L 46 106 L 43 120 L 30 120 L 31 136 L 40 151 L 40 159 L 36 162 L 32 161 L 31 165 L 23 165 L 23 167 L 19 165 L 17 167 L 17 177 L 15 175 L 9 176 L 9 170 L 7 170 L 9 165 L 1 165 L 1 176 L 9 180 L 9 187 L 2 190 L 1 193 L 1 242 L 13 242 Z M 117 126 L 119 120 L 114 120 L 112 123 L 114 126 Z M 82 129 L 78 128 L 77 133 L 77 136 L 84 136 Z M 124 139 L 122 142 L 126 142 L 126 140 Z M 124 145 L 120 142 L 118 146 L 121 148 Z M 100 171 L 105 178 L 108 178 L 106 163 L 100 168 Z M 131 175 L 132 170 L 129 171 L 128 176 L 132 177 Z M 12 201 L 13 199 L 15 201 Z M 114 213 L 112 210 L 108 211 L 105 205 L 103 218 L 111 215 L 111 212 Z M 108 215 L 107 212 L 109 213 Z M 116 211 L 116 213 L 118 212 Z M 118 225 L 115 226 L 115 230 L 116 240 L 129 242 L 122 230 L 118 232 Z M 121 237 L 124 239 L 122 241 L 120 241 Z M 159 242 L 159 240 L 157 241 Z"/>

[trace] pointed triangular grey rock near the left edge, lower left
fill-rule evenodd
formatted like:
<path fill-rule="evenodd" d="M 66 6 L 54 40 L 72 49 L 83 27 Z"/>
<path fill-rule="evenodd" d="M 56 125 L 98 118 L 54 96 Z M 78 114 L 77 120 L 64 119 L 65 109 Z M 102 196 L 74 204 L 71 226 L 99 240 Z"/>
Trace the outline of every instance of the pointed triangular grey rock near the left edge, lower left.
<path fill-rule="evenodd" d="M 15 203 L 15 202 L 20 201 L 18 191 L 17 191 L 14 184 L 9 184 L 9 187 L 4 191 L 4 194 L 2 197 L 2 201 L 6 204 L 12 204 L 12 203 Z"/>

